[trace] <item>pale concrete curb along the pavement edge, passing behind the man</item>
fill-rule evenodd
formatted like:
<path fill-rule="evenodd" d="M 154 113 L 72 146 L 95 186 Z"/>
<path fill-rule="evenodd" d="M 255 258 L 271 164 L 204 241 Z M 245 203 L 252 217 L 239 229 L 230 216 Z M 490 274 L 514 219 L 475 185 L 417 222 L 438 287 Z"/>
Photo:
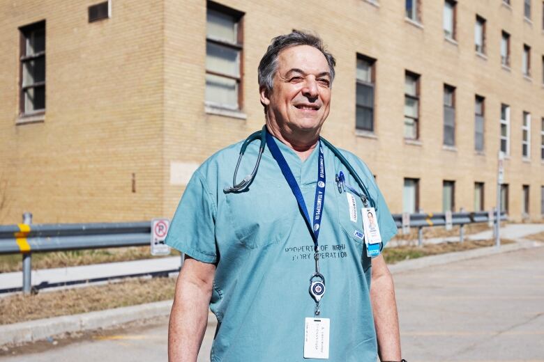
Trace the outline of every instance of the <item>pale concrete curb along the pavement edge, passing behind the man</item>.
<path fill-rule="evenodd" d="M 531 249 L 544 246 L 542 242 L 535 242 L 526 239 L 520 239 L 515 244 L 506 244 L 501 249 L 494 246 L 487 248 L 474 249 L 469 251 L 457 251 L 441 255 L 426 256 L 423 258 L 405 260 L 397 264 L 390 265 L 391 274 L 409 272 L 411 270 L 422 269 L 425 267 L 434 267 L 444 265 L 450 262 L 481 258 L 483 256 L 499 253 L 510 253 L 522 249 Z M 108 310 L 98 310 L 96 312 L 82 313 L 76 315 L 64 315 L 61 317 L 45 318 L 43 320 L 31 320 L 14 324 L 0 326 L 0 347 L 4 345 L 17 345 L 22 343 L 36 342 L 44 340 L 51 336 L 62 333 L 73 333 L 82 331 L 92 331 L 111 326 L 118 326 L 137 320 L 151 320 L 156 317 L 166 317 L 172 309 L 172 300 L 157 301 L 149 304 L 140 304 L 138 306 L 128 306 Z M 209 313 L 208 325 L 215 325 L 216 317 Z"/>

